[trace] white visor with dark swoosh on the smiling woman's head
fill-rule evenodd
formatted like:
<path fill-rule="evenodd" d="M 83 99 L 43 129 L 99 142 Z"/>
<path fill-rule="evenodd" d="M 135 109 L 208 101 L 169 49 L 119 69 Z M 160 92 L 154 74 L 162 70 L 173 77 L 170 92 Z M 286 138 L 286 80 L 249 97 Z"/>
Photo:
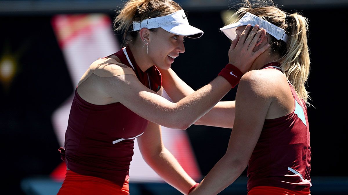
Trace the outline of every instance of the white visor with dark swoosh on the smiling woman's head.
<path fill-rule="evenodd" d="M 189 24 L 189 20 L 187 20 L 185 12 L 182 9 L 166 16 L 144 19 L 141 22 L 133 22 L 133 31 L 140 31 L 140 29 L 144 27 L 148 29 L 160 27 L 170 33 L 187 36 L 193 39 L 203 35 L 203 31 Z"/>

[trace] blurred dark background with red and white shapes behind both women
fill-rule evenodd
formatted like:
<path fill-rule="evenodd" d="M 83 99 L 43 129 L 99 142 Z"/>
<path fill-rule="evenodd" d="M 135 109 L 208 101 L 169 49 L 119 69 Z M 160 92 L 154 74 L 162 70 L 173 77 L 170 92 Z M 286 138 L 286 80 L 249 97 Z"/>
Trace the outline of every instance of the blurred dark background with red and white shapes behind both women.
<path fill-rule="evenodd" d="M 229 39 L 219 31 L 236 1 L 176 0 L 191 25 L 204 31 L 186 39 L 172 68 L 192 88 L 216 77 L 228 62 Z M 309 19 L 311 71 L 307 90 L 312 194 L 348 194 L 345 112 L 348 0 L 275 0 Z M 112 30 L 119 0 L 0 0 L 0 143 L 2 194 L 56 194 L 73 90 L 89 65 L 120 49 Z M 231 9 L 230 9 L 231 8 Z M 228 9 L 230 9 L 228 11 Z M 192 76 L 194 73 L 194 76 Z M 236 88 L 224 101 L 234 100 Z M 193 125 L 163 128 L 166 147 L 196 181 L 226 152 L 231 129 Z M 246 194 L 246 171 L 220 194 Z M 130 167 L 132 195 L 180 194 L 142 160 L 137 144 Z"/>

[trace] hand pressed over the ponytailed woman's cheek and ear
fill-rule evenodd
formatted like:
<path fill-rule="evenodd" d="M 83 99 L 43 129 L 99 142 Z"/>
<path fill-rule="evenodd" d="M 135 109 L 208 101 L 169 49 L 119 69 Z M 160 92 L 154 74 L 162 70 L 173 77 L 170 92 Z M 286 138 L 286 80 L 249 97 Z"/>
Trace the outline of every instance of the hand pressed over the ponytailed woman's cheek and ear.
<path fill-rule="evenodd" d="M 269 47 L 269 44 L 267 43 L 259 50 L 253 52 L 255 46 L 258 46 L 261 43 L 258 42 L 258 40 L 261 40 L 266 36 L 266 31 L 264 29 L 258 31 L 259 25 L 256 24 L 250 35 L 247 36 L 250 28 L 251 25 L 248 24 L 240 37 L 238 35 L 236 36 L 236 39 L 232 41 L 230 50 L 228 51 L 229 63 L 236 66 L 243 74 L 250 70 L 255 59 Z"/>

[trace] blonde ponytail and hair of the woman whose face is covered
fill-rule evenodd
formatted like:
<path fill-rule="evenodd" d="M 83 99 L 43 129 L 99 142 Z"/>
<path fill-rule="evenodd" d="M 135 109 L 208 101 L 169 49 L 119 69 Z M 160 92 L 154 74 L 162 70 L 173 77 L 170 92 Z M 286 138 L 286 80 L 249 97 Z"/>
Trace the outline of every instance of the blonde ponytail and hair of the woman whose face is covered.
<path fill-rule="evenodd" d="M 278 8 L 272 0 L 243 0 L 234 14 L 237 21 L 250 12 L 268 22 L 285 29 L 289 36 L 287 43 L 271 36 L 271 54 L 280 56 L 281 68 L 294 86 L 296 93 L 308 103 L 309 94 L 305 88 L 309 75 L 309 51 L 307 44 L 308 19 L 299 13 L 288 14 Z"/>

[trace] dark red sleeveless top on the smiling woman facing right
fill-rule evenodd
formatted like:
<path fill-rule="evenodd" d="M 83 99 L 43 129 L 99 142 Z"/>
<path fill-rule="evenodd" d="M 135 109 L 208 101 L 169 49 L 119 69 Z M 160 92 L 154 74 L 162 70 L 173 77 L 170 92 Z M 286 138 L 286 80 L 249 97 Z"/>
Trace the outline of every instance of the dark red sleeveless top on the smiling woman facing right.
<path fill-rule="evenodd" d="M 159 90 L 161 75 L 156 66 L 141 71 L 128 48 L 113 55 L 132 68 L 142 84 L 155 92 Z M 62 158 L 73 172 L 100 177 L 122 186 L 129 178 L 134 137 L 140 136 L 148 123 L 119 102 L 91 104 L 75 90 Z"/>

